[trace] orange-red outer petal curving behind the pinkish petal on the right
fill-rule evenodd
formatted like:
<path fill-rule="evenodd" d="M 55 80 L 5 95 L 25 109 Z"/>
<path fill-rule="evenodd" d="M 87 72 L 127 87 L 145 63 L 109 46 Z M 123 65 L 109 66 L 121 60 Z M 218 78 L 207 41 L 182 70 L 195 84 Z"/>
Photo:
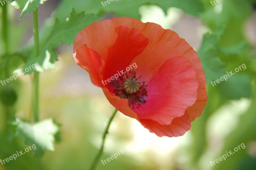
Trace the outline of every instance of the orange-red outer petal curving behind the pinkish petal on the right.
<path fill-rule="evenodd" d="M 187 109 L 188 115 L 193 121 L 201 115 L 208 98 L 204 71 L 196 51 L 177 33 L 172 30 L 164 30 L 157 24 L 146 23 L 144 28 L 139 31 L 150 41 L 145 50 L 131 62 L 136 62 L 138 66 L 136 72 L 147 75 L 141 80 L 148 82 L 167 59 L 175 56 L 186 58 L 196 70 L 196 79 L 199 83 L 198 95 L 195 104 Z M 147 65 L 145 65 L 145 58 L 147 58 Z"/>

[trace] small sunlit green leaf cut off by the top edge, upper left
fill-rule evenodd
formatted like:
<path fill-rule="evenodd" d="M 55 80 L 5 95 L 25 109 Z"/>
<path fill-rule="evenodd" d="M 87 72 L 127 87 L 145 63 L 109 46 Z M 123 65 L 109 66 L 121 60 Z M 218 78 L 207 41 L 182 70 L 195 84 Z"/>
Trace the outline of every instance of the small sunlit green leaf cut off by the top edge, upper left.
<path fill-rule="evenodd" d="M 16 0 L 11 5 L 16 9 L 22 10 L 20 14 L 20 19 L 22 19 L 27 12 L 31 13 L 35 11 L 39 7 L 39 4 L 44 4 L 45 1 L 47 0 Z"/>

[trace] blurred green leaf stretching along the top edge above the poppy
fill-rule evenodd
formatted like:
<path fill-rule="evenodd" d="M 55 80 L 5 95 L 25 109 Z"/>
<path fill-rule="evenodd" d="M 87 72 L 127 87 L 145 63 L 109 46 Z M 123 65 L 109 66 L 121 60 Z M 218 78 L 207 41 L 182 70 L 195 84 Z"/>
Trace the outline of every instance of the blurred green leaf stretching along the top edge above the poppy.
<path fill-rule="evenodd" d="M 158 5 L 166 13 L 168 8 L 176 7 L 182 9 L 184 12 L 191 15 L 198 15 L 203 11 L 204 7 L 200 0 L 115 0 L 110 4 L 104 4 L 105 0 L 95 2 L 95 0 L 63 0 L 60 3 L 56 11 L 56 17 L 65 18 L 68 16 L 68 8 L 75 8 L 76 11 L 86 11 L 89 13 L 95 13 L 96 15 L 102 15 L 105 13 L 116 13 L 119 17 L 130 17 L 140 19 L 139 7 L 141 5 Z"/>

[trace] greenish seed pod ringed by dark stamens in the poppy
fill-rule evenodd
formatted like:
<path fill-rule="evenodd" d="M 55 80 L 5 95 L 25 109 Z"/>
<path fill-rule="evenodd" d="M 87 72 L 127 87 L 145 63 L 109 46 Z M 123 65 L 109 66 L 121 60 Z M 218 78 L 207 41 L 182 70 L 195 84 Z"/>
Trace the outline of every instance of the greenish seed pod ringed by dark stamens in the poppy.
<path fill-rule="evenodd" d="M 127 98 L 129 100 L 129 107 L 139 108 L 142 103 L 146 103 L 147 85 L 145 81 L 140 82 L 139 78 L 136 78 L 136 72 L 125 73 L 119 76 L 120 81 L 118 81 L 117 86 L 113 93 L 121 98 Z"/>

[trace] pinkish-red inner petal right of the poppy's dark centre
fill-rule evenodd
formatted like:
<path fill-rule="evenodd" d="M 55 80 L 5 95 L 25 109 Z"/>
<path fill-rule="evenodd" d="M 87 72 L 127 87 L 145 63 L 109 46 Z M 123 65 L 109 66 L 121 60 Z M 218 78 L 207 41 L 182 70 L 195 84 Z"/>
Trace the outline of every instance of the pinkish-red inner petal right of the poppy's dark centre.
<path fill-rule="evenodd" d="M 133 109 L 139 119 L 154 120 L 170 125 L 176 117 L 184 115 L 197 97 L 196 71 L 183 57 L 167 60 L 148 83 L 147 103 Z"/>

